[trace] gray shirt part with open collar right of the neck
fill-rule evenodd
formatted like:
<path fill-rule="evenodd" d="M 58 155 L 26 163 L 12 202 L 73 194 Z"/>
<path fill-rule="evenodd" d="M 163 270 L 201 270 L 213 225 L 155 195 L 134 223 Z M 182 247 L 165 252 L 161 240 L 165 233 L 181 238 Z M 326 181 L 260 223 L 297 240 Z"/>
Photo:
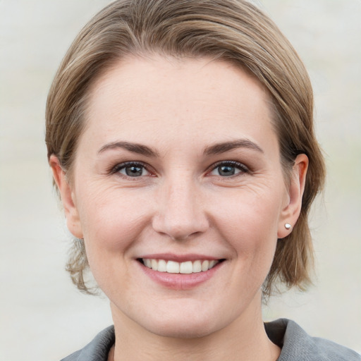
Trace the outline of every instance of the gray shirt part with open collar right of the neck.
<path fill-rule="evenodd" d="M 264 324 L 272 342 L 279 345 L 277 361 L 361 361 L 361 355 L 324 338 L 309 336 L 289 319 L 278 319 Z"/>

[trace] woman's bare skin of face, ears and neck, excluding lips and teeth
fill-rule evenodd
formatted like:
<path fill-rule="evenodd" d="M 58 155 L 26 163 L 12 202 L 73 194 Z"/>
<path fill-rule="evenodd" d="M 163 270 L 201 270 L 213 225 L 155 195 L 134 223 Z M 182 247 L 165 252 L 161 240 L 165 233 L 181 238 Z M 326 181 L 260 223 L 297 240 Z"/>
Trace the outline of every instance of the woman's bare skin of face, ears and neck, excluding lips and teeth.
<path fill-rule="evenodd" d="M 94 82 L 72 182 L 56 157 L 50 165 L 68 228 L 84 238 L 111 303 L 110 358 L 279 356 L 264 331 L 261 287 L 277 238 L 292 231 L 284 224 L 300 214 L 308 161 L 300 154 L 285 182 L 268 104 L 258 80 L 209 59 L 125 59 Z M 139 176 L 122 168 L 132 161 Z M 174 289 L 137 260 L 156 253 L 224 262 L 207 281 Z"/>

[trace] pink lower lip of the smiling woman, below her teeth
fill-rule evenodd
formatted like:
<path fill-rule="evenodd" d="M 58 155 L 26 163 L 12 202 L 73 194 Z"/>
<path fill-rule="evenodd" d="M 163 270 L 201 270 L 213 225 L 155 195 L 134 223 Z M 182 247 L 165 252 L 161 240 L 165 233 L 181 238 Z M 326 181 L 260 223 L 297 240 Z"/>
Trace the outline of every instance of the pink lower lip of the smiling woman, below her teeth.
<path fill-rule="evenodd" d="M 161 286 L 171 288 L 173 290 L 190 290 L 191 288 L 199 286 L 211 279 L 224 264 L 224 262 L 220 262 L 208 271 L 197 272 L 195 274 L 169 274 L 167 272 L 154 271 L 153 269 L 146 267 L 144 264 L 141 264 L 140 262 L 138 263 L 150 279 L 159 283 Z"/>

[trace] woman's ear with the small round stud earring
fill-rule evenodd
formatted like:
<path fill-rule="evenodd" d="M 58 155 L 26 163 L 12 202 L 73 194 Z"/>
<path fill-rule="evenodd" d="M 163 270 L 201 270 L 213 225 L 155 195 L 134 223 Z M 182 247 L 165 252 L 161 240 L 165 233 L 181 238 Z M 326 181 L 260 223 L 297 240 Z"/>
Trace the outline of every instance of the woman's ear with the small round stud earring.
<path fill-rule="evenodd" d="M 306 173 L 308 168 L 308 157 L 306 154 L 298 154 L 292 168 L 288 184 L 288 197 L 283 206 L 279 218 L 277 237 L 284 238 L 292 232 L 293 226 L 300 216 L 302 207 L 302 195 L 305 190 Z M 290 224 L 287 229 L 285 224 Z"/>

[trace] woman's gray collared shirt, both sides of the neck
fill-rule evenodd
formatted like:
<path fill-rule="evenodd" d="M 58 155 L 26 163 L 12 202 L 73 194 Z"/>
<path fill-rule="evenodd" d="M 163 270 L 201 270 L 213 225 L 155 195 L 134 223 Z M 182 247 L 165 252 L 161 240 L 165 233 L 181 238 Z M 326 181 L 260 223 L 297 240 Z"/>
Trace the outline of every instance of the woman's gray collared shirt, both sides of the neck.
<path fill-rule="evenodd" d="M 289 319 L 264 324 L 269 339 L 279 345 L 277 361 L 361 361 L 361 355 L 324 338 L 311 337 Z M 97 334 L 92 342 L 61 361 L 106 361 L 115 342 L 114 326 Z"/>

